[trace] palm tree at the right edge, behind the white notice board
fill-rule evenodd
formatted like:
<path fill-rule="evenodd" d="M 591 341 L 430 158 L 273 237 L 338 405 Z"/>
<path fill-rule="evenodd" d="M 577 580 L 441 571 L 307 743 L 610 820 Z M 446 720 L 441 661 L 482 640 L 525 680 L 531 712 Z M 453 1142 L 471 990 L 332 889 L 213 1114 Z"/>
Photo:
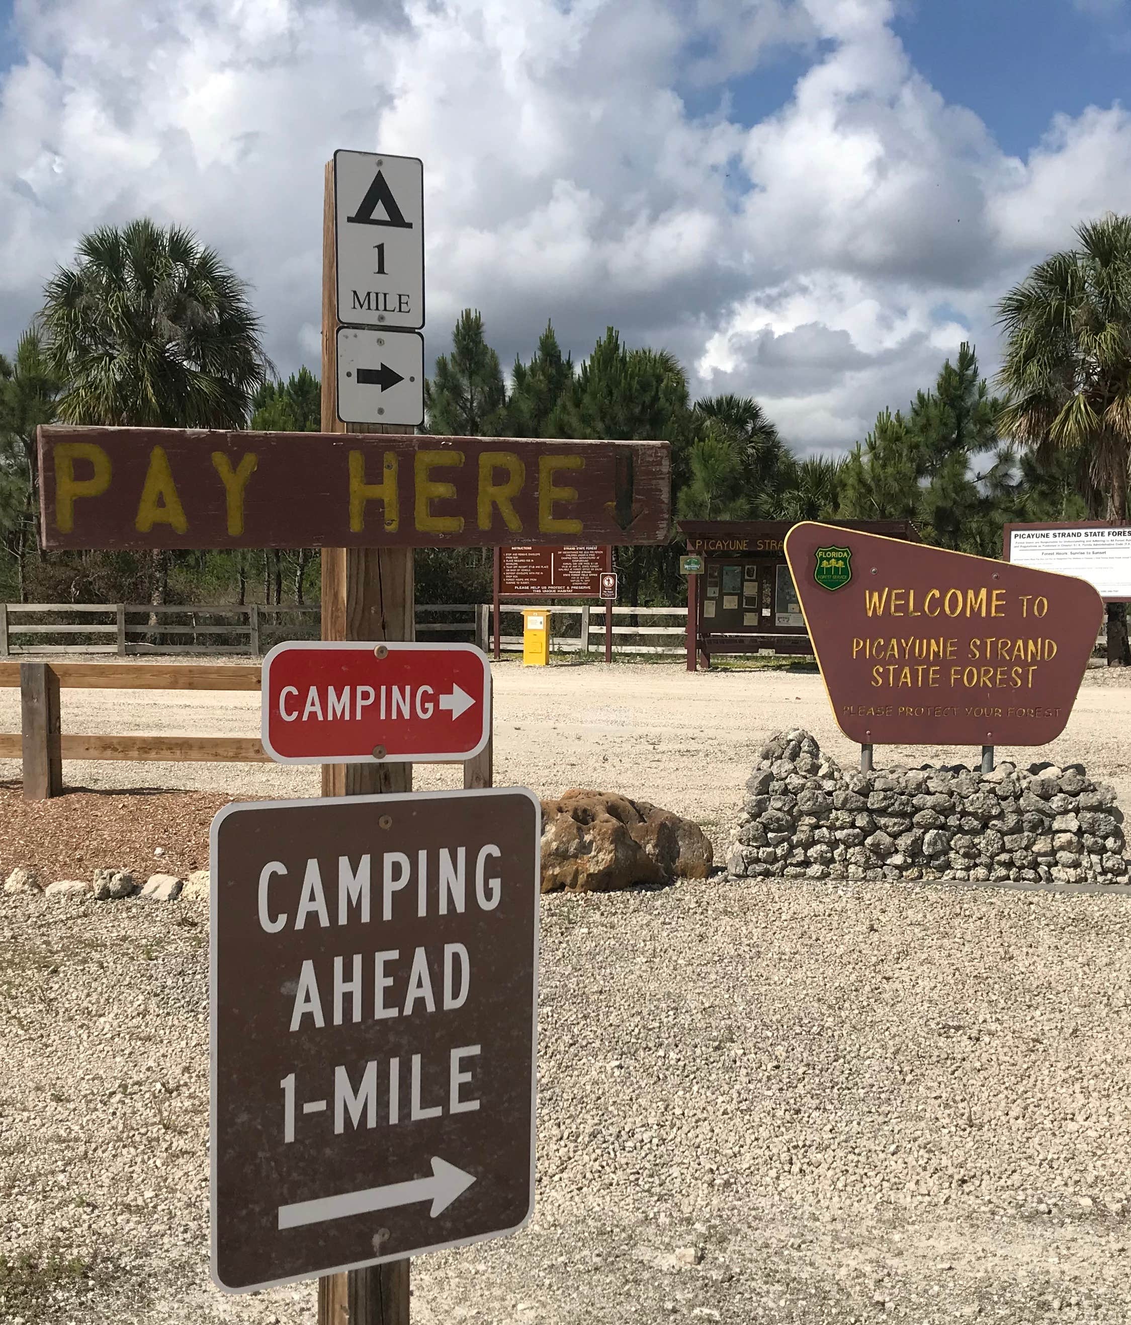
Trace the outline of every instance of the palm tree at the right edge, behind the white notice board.
<path fill-rule="evenodd" d="M 1079 462 L 1093 517 L 1127 519 L 1131 461 L 1131 216 L 1107 213 L 1077 231 L 1081 246 L 1053 253 L 997 306 L 1007 334 L 999 374 L 1008 392 L 1001 431 Z M 1107 608 L 1108 662 L 1131 661 L 1127 615 Z"/>

